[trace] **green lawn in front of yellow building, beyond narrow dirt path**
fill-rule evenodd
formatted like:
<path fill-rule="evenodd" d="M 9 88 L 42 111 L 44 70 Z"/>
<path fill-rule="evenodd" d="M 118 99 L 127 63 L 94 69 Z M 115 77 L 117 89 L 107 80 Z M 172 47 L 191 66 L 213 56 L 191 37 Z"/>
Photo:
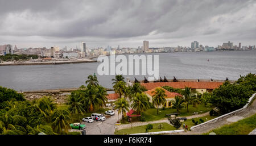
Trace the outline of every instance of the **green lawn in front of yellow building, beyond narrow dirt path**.
<path fill-rule="evenodd" d="M 208 112 L 212 110 L 212 107 L 204 107 L 204 105 L 198 105 L 197 107 L 193 107 L 192 105 L 188 106 L 189 112 L 187 112 L 187 109 L 183 108 L 180 110 L 180 115 L 178 116 L 190 116 L 193 112 L 198 112 L 199 114 L 203 114 L 205 112 Z M 157 113 L 157 109 L 148 109 L 144 112 L 144 117 L 146 118 L 146 121 L 154 121 L 154 120 L 160 120 L 166 117 L 166 114 L 171 114 L 177 112 L 176 109 L 159 109 L 159 113 Z"/>

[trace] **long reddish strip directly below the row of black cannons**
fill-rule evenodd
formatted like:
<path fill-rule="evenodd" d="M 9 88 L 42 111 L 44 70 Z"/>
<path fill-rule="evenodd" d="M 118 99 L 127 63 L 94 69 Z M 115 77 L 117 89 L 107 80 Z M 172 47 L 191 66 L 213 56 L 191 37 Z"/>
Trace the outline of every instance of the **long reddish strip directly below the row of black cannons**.
<path fill-rule="evenodd" d="M 147 90 L 154 89 L 155 87 L 171 86 L 174 88 L 184 89 L 191 87 L 191 89 L 215 89 L 222 85 L 223 82 L 149 82 L 141 83 Z"/>

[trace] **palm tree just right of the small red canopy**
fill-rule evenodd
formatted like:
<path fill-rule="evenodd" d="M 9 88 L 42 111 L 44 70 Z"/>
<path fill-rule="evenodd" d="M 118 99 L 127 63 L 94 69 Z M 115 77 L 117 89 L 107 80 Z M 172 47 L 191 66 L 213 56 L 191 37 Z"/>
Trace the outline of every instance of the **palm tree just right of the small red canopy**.
<path fill-rule="evenodd" d="M 133 103 L 131 104 L 131 107 L 133 110 L 137 111 L 138 114 L 141 114 L 141 112 L 150 109 L 149 100 L 150 99 L 147 97 L 146 94 L 137 93 L 136 96 L 133 98 Z"/>

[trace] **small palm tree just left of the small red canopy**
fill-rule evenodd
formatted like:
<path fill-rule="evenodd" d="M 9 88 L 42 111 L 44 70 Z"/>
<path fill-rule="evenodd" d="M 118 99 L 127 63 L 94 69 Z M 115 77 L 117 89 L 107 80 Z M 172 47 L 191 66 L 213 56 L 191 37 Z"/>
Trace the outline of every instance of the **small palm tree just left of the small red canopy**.
<path fill-rule="evenodd" d="M 118 109 L 118 115 L 121 113 L 122 111 L 122 119 L 124 119 L 125 115 L 124 113 L 129 111 L 129 103 L 126 101 L 125 98 L 121 97 L 118 98 L 117 101 L 115 102 L 115 107 L 114 109 Z"/>

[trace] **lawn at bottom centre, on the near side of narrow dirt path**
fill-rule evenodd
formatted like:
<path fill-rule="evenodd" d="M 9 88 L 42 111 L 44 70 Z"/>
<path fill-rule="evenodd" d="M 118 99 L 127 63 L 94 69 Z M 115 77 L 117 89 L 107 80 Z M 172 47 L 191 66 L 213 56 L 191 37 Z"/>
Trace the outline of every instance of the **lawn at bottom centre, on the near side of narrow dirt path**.
<path fill-rule="evenodd" d="M 159 124 L 163 124 L 163 129 L 158 129 Z M 176 128 L 174 128 L 173 126 L 171 126 L 170 124 L 167 124 L 167 123 L 156 123 L 156 124 L 152 124 L 152 125 L 153 125 L 153 129 L 148 130 L 148 132 L 176 130 Z M 133 127 L 133 128 L 127 128 L 127 129 L 123 129 L 123 130 L 118 130 L 114 134 L 124 135 L 124 134 L 138 134 L 138 133 L 144 133 L 144 132 L 146 132 L 146 125 L 137 126 L 137 127 Z"/>

